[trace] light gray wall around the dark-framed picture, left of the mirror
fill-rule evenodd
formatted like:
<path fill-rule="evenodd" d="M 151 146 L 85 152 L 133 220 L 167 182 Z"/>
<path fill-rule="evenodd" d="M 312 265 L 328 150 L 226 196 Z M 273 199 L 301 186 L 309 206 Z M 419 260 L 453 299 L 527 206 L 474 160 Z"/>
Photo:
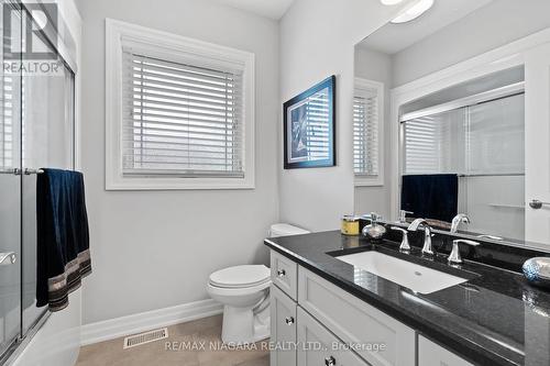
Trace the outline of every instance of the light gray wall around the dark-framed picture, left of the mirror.
<path fill-rule="evenodd" d="M 399 12 L 364 0 L 297 0 L 280 21 L 280 98 L 337 75 L 337 167 L 282 169 L 280 220 L 320 231 L 353 212 L 352 90 L 354 45 Z M 312 36 L 315 30 L 315 36 Z M 282 135 L 279 129 L 279 141 Z M 279 142 L 279 146 L 282 143 Z"/>

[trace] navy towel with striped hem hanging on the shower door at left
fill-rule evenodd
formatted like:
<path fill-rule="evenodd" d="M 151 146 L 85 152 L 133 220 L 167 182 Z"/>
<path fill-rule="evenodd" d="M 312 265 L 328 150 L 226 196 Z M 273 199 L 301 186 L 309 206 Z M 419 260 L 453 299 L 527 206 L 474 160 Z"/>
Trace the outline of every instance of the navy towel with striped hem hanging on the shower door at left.
<path fill-rule="evenodd" d="M 58 311 L 91 273 L 84 176 L 43 169 L 36 179 L 36 306 Z"/>

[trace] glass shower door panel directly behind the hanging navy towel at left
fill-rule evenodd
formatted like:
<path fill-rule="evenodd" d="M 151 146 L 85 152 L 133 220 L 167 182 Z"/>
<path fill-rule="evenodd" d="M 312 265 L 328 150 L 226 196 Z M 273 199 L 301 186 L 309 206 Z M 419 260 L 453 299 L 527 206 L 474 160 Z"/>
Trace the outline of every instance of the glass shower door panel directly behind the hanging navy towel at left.
<path fill-rule="evenodd" d="M 43 42 L 48 52 L 56 53 Z M 59 66 L 52 74 L 22 75 L 22 334 L 47 310 L 36 307 L 36 174 L 40 168 L 74 169 L 75 76 L 63 62 Z"/>

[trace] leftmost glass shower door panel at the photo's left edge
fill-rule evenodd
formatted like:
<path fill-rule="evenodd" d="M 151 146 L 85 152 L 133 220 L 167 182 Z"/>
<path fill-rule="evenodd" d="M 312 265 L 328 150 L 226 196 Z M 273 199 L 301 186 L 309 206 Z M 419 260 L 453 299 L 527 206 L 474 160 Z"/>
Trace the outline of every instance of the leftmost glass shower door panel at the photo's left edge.
<path fill-rule="evenodd" d="M 3 22 L 4 1 L 0 21 Z M 20 23 L 12 12 L 12 24 Z M 2 24 L 3 33 L 4 24 Z M 13 30 L 12 44 L 21 44 Z M 4 40 L 6 41 L 6 40 Z M 2 62 L 10 49 L 2 47 Z M 0 362 L 21 334 L 21 78 L 0 70 Z"/>

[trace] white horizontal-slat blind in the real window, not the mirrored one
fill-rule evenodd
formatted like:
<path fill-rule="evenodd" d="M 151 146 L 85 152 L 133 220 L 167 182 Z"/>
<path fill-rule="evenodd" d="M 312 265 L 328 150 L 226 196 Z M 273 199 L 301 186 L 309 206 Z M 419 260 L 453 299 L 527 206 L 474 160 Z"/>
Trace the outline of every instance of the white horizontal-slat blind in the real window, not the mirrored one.
<path fill-rule="evenodd" d="M 244 176 L 242 70 L 122 58 L 123 175 Z"/>

